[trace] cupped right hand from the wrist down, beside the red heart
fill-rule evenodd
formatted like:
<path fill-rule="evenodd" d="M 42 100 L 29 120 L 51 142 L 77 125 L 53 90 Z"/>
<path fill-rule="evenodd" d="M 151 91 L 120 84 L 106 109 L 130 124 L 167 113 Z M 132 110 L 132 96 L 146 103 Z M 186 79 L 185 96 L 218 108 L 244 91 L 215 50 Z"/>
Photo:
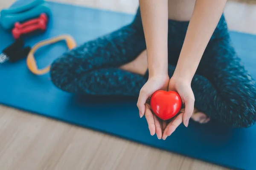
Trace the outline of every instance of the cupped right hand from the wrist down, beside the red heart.
<path fill-rule="evenodd" d="M 176 91 L 185 104 L 185 110 L 181 109 L 180 114 L 164 128 L 163 139 L 170 136 L 176 128 L 183 122 L 188 127 L 189 119 L 194 111 L 195 96 L 191 88 L 191 82 L 188 79 L 172 77 L 169 81 L 168 91 Z"/>

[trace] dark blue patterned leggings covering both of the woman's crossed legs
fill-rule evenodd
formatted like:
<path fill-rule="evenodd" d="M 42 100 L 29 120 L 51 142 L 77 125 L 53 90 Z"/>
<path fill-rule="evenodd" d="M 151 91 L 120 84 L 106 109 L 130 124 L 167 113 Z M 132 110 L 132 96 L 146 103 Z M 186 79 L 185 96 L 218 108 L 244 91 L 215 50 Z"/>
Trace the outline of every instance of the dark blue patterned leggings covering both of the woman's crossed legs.
<path fill-rule="evenodd" d="M 189 22 L 169 20 L 171 77 Z M 146 49 L 140 9 L 133 22 L 85 42 L 52 63 L 55 86 L 73 94 L 138 96 L 148 78 L 118 67 Z M 192 80 L 195 108 L 228 126 L 250 127 L 256 121 L 256 82 L 237 56 L 222 15 Z"/>

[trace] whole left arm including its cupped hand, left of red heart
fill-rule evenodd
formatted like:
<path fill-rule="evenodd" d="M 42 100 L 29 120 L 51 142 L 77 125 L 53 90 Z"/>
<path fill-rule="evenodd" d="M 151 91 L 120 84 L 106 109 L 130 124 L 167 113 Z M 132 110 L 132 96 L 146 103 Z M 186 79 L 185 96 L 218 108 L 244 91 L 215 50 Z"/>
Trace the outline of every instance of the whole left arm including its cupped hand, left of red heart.
<path fill-rule="evenodd" d="M 162 137 L 159 120 L 147 102 L 157 90 L 168 90 L 168 0 L 139 0 L 147 47 L 148 81 L 140 90 L 137 102 L 140 117 L 145 114 L 151 135 Z"/>

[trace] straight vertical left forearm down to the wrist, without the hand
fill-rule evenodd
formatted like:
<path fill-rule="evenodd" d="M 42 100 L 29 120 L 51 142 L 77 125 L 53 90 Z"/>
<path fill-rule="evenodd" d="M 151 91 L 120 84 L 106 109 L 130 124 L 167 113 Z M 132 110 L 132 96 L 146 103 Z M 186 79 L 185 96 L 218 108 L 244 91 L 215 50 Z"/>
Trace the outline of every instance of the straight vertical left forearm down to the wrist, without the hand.
<path fill-rule="evenodd" d="M 168 74 L 168 0 L 140 0 L 149 77 Z"/>

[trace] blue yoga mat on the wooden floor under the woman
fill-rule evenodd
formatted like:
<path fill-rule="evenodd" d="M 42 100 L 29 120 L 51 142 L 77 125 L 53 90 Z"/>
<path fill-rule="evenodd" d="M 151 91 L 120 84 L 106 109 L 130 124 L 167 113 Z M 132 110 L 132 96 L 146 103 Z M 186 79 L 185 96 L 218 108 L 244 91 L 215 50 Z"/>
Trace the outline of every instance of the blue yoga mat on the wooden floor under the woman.
<path fill-rule="evenodd" d="M 20 0 L 15 6 L 27 3 Z M 26 38 L 34 45 L 60 34 L 72 35 L 78 45 L 130 23 L 133 15 L 59 3 L 49 3 L 52 16 L 44 34 Z M 247 69 L 256 78 L 256 36 L 230 32 L 234 46 Z M 0 28 L 0 50 L 14 40 Z M 40 48 L 35 56 L 39 67 L 49 65 L 67 50 L 64 42 Z M 227 128 L 211 121 L 180 125 L 166 141 L 151 136 L 145 118 L 140 119 L 136 99 L 102 96 L 75 96 L 58 90 L 49 74 L 35 76 L 25 59 L 0 65 L 0 103 L 82 127 L 99 130 L 131 141 L 208 161 L 232 169 L 256 170 L 256 126 Z"/>

